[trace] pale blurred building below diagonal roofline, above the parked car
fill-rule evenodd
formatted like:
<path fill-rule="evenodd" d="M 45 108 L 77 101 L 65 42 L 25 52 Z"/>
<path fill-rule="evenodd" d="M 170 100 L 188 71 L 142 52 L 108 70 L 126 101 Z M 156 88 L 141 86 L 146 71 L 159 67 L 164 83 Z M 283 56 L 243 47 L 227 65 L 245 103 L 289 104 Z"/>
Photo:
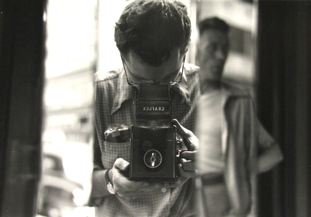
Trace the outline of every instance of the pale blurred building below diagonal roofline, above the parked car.
<path fill-rule="evenodd" d="M 89 68 L 47 78 L 45 131 L 62 131 L 66 141 L 91 140 L 93 73 Z"/>

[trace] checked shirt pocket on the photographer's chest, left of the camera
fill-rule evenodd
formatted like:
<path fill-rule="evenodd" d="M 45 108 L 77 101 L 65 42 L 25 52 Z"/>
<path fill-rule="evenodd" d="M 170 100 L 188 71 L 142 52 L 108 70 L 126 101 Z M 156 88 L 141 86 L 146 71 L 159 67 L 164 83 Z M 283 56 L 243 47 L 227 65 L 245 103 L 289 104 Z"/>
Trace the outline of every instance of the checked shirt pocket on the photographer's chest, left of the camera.
<path fill-rule="evenodd" d="M 103 141 L 103 143 L 100 144 L 100 149 L 101 160 L 106 169 L 112 168 L 115 160 L 118 158 L 123 158 L 130 162 L 131 148 L 129 141 L 122 143 Z"/>

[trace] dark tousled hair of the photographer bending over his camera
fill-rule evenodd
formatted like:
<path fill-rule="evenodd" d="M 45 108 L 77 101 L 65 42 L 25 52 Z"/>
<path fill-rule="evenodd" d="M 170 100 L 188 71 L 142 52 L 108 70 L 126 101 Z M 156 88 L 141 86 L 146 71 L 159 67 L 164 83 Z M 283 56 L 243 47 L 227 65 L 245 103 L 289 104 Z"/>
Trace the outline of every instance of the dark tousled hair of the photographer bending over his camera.
<path fill-rule="evenodd" d="M 177 0 L 136 0 L 116 22 L 114 40 L 122 55 L 134 51 L 152 66 L 165 62 L 175 49 L 188 50 L 191 23 Z"/>

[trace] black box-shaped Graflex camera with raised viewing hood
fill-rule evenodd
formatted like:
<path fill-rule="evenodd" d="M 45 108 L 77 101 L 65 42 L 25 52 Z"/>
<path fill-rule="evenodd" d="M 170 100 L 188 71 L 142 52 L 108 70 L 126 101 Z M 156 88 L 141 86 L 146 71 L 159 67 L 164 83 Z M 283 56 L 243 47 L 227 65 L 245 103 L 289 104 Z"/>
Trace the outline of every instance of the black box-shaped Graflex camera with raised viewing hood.
<path fill-rule="evenodd" d="M 131 126 L 130 180 L 176 182 L 182 139 L 171 125 L 168 85 L 140 85 Z"/>

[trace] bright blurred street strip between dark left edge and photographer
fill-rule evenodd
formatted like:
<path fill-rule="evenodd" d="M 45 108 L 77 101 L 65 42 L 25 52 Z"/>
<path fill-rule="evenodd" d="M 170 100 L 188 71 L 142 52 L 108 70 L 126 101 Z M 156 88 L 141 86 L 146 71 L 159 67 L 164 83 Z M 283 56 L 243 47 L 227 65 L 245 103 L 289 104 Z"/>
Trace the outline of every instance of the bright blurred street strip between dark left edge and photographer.
<path fill-rule="evenodd" d="M 86 205 L 93 170 L 97 10 L 96 0 L 55 0 L 48 2 L 44 14 L 43 175 L 38 204 L 38 213 L 44 216 L 92 216 Z"/>

